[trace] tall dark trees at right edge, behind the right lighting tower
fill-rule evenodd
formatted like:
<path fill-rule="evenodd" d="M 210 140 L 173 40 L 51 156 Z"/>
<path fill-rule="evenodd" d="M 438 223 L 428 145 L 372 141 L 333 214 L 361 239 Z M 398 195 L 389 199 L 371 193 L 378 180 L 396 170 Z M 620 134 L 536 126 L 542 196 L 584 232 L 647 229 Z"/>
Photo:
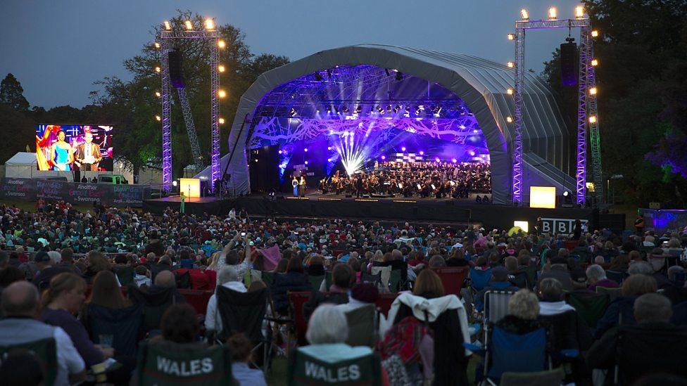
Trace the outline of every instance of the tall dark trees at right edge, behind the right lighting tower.
<path fill-rule="evenodd" d="M 622 175 L 611 184 L 627 203 L 685 207 L 687 1 L 583 3 L 599 32 L 593 43 L 604 180 Z M 561 84 L 560 52 L 545 65 L 543 77 L 576 122 L 577 90 Z"/>

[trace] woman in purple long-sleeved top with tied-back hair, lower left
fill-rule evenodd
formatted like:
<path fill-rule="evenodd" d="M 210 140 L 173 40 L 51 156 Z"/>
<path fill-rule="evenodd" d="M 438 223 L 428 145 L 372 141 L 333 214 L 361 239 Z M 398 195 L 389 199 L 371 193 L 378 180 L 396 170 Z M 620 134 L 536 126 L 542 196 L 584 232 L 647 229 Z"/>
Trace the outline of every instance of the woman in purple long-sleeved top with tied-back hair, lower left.
<path fill-rule="evenodd" d="M 86 328 L 74 316 L 84 304 L 85 290 L 84 279 L 76 274 L 64 273 L 53 277 L 50 288 L 43 292 L 41 320 L 65 330 L 86 366 L 91 367 L 113 356 L 114 351 L 94 345 Z"/>

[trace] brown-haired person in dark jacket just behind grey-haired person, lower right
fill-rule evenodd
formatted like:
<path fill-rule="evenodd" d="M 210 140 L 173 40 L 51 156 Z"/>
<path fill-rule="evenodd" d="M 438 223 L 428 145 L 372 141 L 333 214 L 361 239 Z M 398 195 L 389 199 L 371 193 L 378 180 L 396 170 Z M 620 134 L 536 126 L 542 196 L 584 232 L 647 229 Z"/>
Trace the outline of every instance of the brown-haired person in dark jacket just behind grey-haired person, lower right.
<path fill-rule="evenodd" d="M 610 328 L 621 325 L 634 325 L 634 302 L 645 293 L 656 292 L 656 280 L 647 275 L 635 274 L 626 278 L 622 284 L 621 294 L 606 309 L 603 317 L 596 323 L 594 337 L 600 337 Z"/>

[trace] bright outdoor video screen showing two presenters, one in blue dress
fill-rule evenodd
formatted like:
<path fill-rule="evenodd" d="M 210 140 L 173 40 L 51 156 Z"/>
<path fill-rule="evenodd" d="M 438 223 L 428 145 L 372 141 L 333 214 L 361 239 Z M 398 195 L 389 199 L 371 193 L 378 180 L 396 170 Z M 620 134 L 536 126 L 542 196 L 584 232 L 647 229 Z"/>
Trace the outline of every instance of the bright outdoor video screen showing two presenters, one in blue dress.
<path fill-rule="evenodd" d="M 112 127 L 39 124 L 36 158 L 39 170 L 111 172 Z"/>

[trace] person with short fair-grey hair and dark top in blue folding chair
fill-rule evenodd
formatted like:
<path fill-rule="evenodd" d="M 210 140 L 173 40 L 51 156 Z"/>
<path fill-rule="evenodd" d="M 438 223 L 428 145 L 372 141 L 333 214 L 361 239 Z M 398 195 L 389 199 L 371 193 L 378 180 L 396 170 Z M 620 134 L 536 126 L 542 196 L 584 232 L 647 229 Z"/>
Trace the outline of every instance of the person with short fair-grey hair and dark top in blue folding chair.
<path fill-rule="evenodd" d="M 530 290 L 519 290 L 508 300 L 508 315 L 496 321 L 496 326 L 512 334 L 527 334 L 539 328 L 539 301 Z"/>

